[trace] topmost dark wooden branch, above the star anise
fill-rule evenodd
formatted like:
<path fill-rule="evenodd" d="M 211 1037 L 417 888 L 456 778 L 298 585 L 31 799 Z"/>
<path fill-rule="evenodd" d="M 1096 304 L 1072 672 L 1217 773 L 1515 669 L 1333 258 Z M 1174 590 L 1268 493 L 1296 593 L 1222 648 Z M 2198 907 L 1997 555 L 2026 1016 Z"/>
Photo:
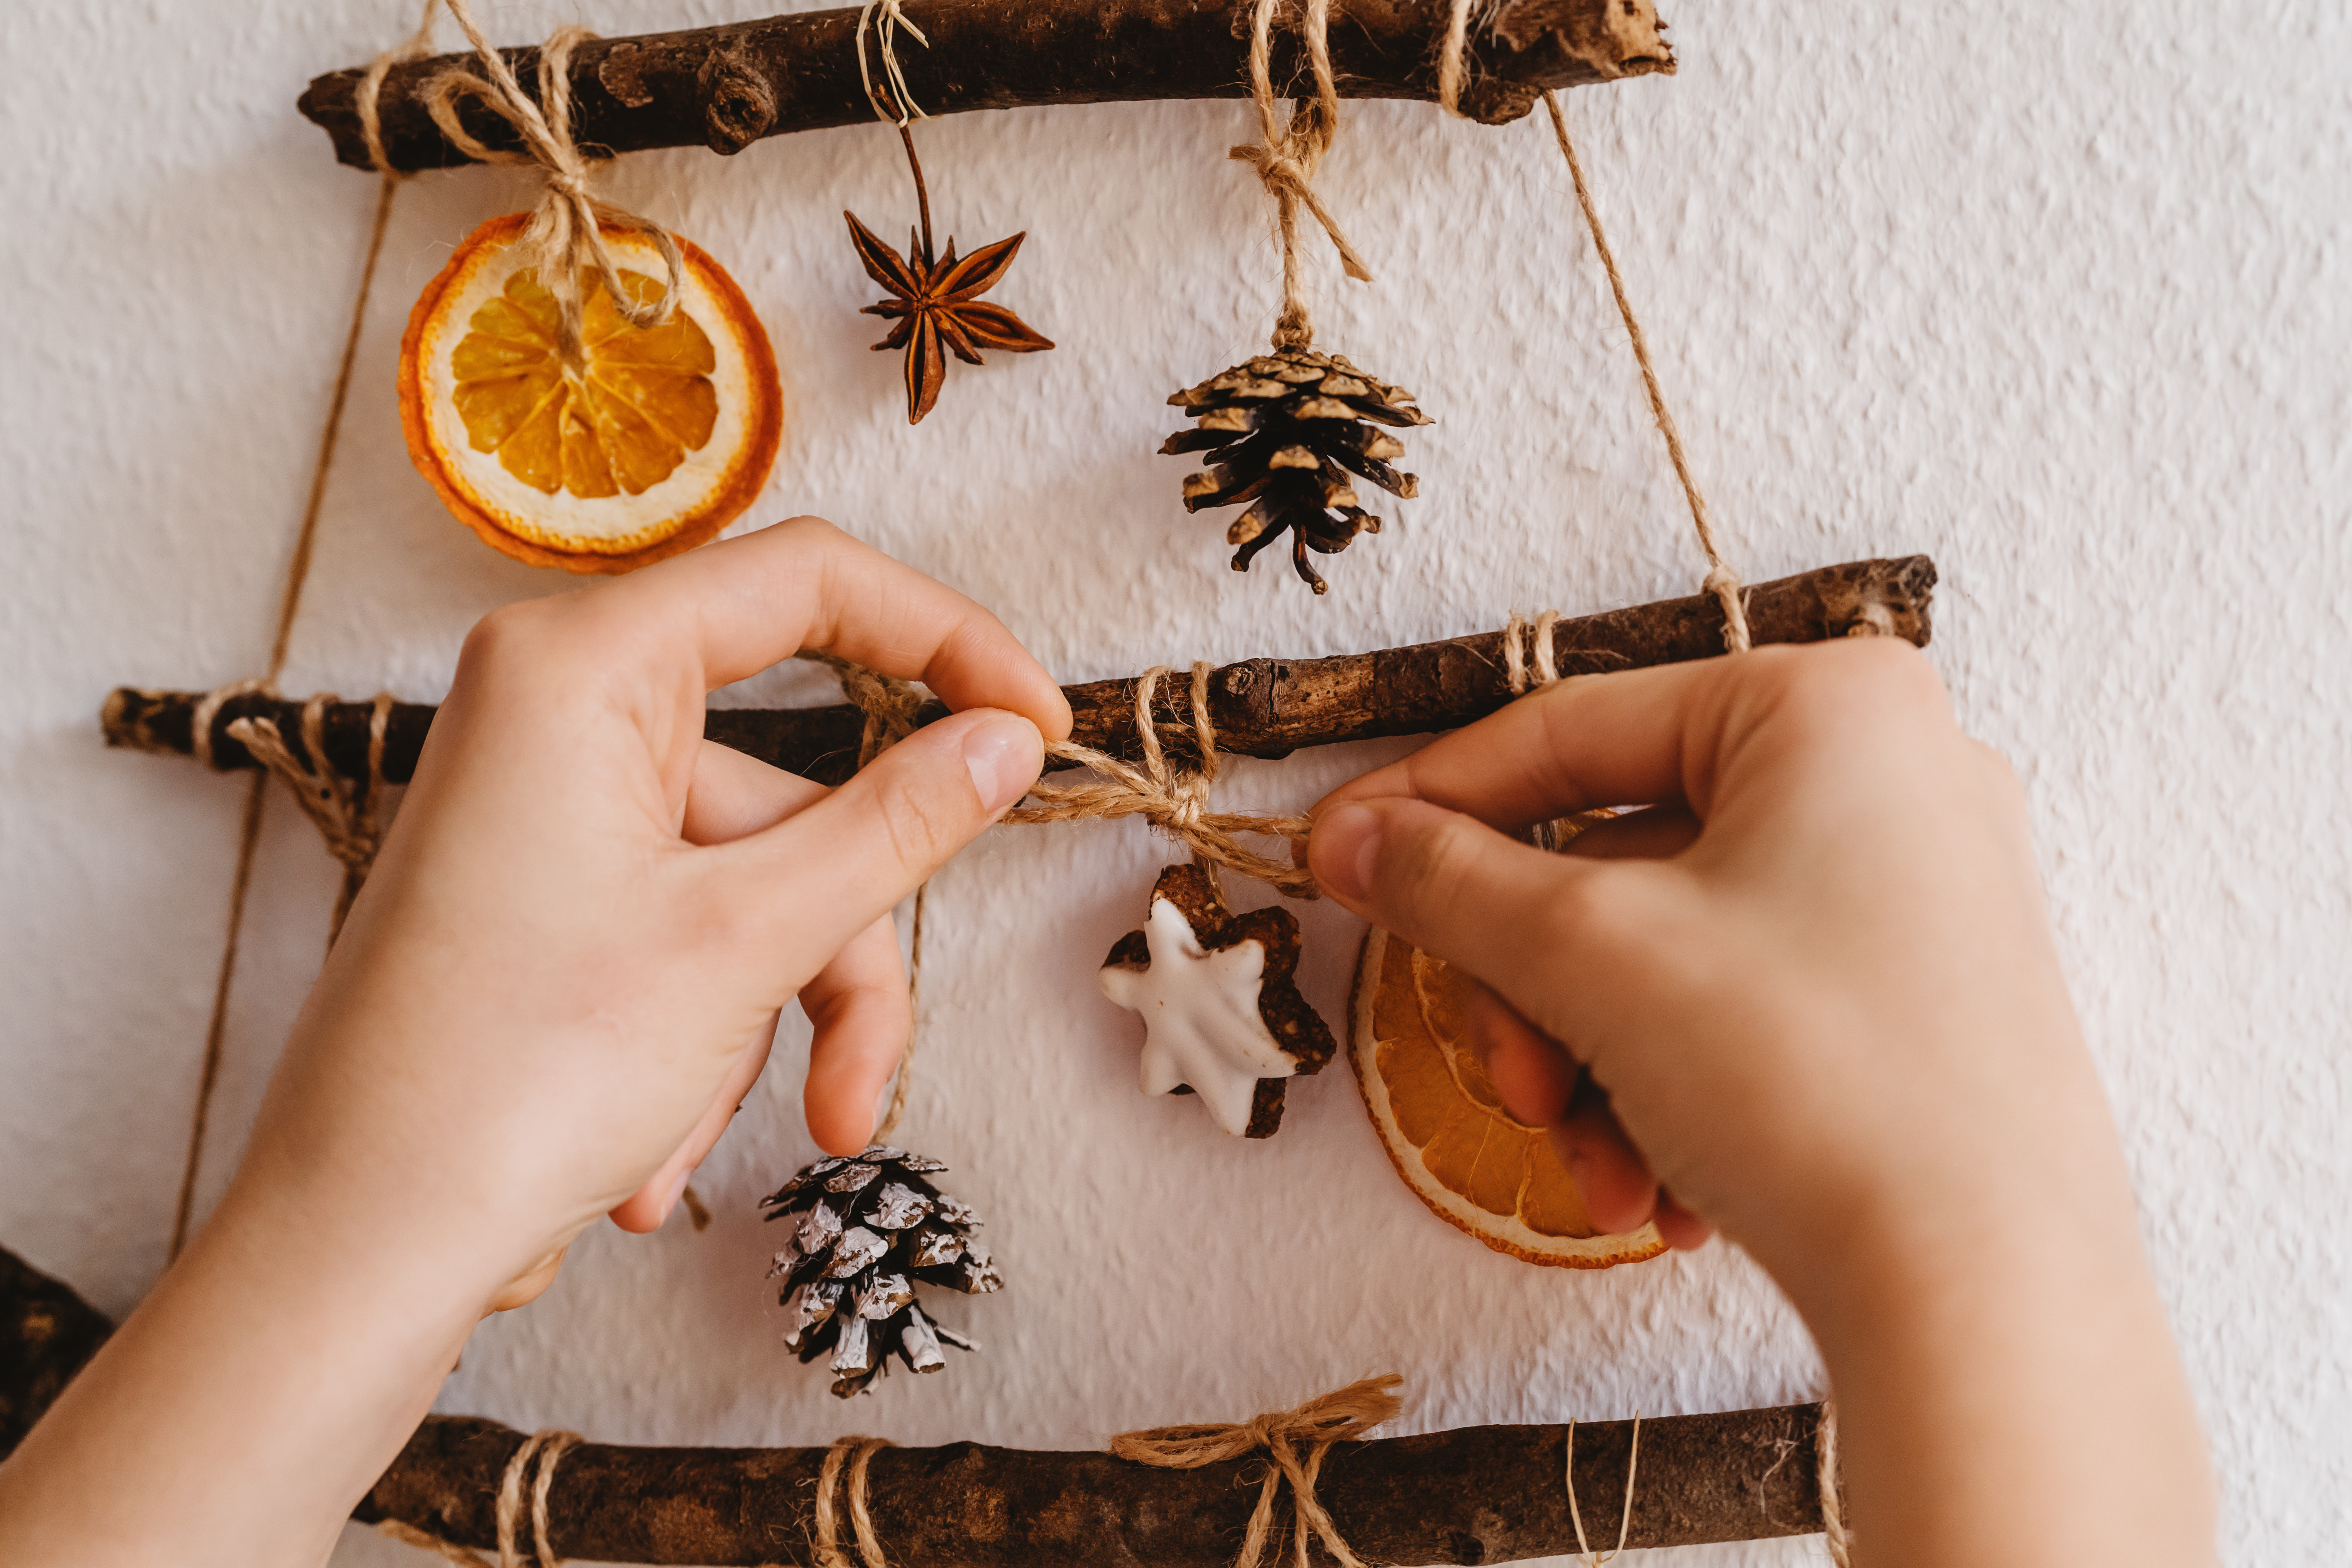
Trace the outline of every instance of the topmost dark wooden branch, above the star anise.
<path fill-rule="evenodd" d="M 915 0 L 906 14 L 931 40 L 929 49 L 898 42 L 908 89 L 931 115 L 1247 96 L 1247 0 Z M 1331 61 L 1341 94 L 1435 99 L 1446 14 L 1446 0 L 1336 0 Z M 1524 115 L 1545 87 L 1670 73 L 1675 54 L 1663 26 L 1651 0 L 1501 0 L 1472 31 L 1463 110 L 1501 125 Z M 574 134 L 583 148 L 614 153 L 680 146 L 741 153 L 762 136 L 870 125 L 856 31 L 858 7 L 844 7 L 581 45 L 572 54 Z M 536 92 L 539 49 L 506 49 L 506 59 Z M 473 59 L 445 54 L 395 66 L 386 78 L 381 127 L 395 167 L 468 162 L 416 96 L 421 82 L 449 66 Z M 301 94 L 301 113 L 325 127 L 336 160 L 355 169 L 369 167 L 353 108 L 360 75 L 360 68 L 332 71 Z M 1305 75 L 1289 28 L 1275 45 L 1272 75 L 1275 82 Z M 520 148 L 513 127 L 485 108 L 461 115 L 485 143 Z"/>

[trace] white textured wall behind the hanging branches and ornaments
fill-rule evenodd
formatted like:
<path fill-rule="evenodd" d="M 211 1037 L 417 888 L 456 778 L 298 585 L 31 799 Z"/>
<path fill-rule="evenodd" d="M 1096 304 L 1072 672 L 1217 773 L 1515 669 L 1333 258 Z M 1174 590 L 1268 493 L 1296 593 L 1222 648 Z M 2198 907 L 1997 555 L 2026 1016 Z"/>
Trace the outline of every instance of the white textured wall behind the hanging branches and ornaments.
<path fill-rule="evenodd" d="M 482 5 L 501 40 L 762 0 Z M 9 698 L 0 703 L 0 1241 L 111 1312 L 162 1267 L 242 785 L 111 755 L 118 682 L 256 672 L 374 186 L 294 115 L 412 7 L 9 0 L 0 49 Z M 2025 776 L 2084 1020 L 2187 1347 L 2234 1563 L 2352 1540 L 2352 24 L 2321 0 L 1670 7 L 1682 75 L 1571 96 L 1682 423 L 1755 578 L 1931 550 L 1933 658 Z M 1237 66 L 1240 68 L 1240 66 Z M 920 85 L 922 63 L 913 75 Z M 1002 296 L 1051 355 L 955 369 L 920 430 L 870 355 L 842 235 L 910 212 L 880 127 L 626 160 L 612 193 L 762 310 L 790 423 L 760 520 L 823 512 L 993 604 L 1068 679 L 1352 651 L 1512 609 L 1689 592 L 1698 569 L 1623 334 L 1541 122 L 1348 118 L 1322 188 L 1371 256 L 1317 256 L 1324 341 L 1418 390 L 1425 501 L 1310 599 L 1240 578 L 1152 456 L 1162 397 L 1261 343 L 1268 219 L 1240 103 L 922 129 L 960 240 L 1028 228 Z M 419 284 L 529 181 L 400 200 L 287 691 L 442 691 L 463 630 L 567 588 L 492 555 L 409 470 L 393 411 Z M 746 696 L 814 698 L 769 677 Z M 1303 804 L 1397 748 L 1237 769 Z M 1390 1178 L 1348 1074 L 1240 1145 L 1131 1091 L 1094 966 L 1164 858 L 1131 825 L 1000 830 L 934 891 L 908 1135 L 993 1222 L 988 1342 L 842 1408 L 776 1345 L 753 1201 L 809 1157 L 795 1048 L 699 1178 L 708 1234 L 593 1232 L 487 1324 L 442 1399 L 616 1441 L 840 1429 L 1080 1446 L 1402 1368 L 1414 1427 L 1804 1396 L 1804 1333 L 1715 1246 L 1526 1269 Z M 334 877 L 270 802 L 209 1201 L 308 983 Z M 1317 907 L 1338 1016 L 1352 924 Z M 2018 1215 L 2030 1225 L 2032 1215 Z M 350 1533 L 339 1563 L 405 1549 Z M 1780 1542 L 1658 1554 L 1797 1563 Z"/>

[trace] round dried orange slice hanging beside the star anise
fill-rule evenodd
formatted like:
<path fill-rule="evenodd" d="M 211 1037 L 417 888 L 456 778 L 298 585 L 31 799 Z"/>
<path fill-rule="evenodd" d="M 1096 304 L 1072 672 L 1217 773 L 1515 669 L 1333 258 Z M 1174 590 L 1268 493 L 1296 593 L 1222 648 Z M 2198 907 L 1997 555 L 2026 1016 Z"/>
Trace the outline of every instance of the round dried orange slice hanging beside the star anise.
<path fill-rule="evenodd" d="M 630 571 L 703 543 L 767 484 L 783 435 L 776 353 L 699 247 L 677 310 L 633 327 L 583 270 L 586 357 L 562 362 L 555 299 L 517 263 L 527 214 L 492 219 L 426 284 L 400 341 L 400 425 L 442 503 L 534 567 Z M 661 299 L 661 252 L 604 230 L 621 282 Z"/>

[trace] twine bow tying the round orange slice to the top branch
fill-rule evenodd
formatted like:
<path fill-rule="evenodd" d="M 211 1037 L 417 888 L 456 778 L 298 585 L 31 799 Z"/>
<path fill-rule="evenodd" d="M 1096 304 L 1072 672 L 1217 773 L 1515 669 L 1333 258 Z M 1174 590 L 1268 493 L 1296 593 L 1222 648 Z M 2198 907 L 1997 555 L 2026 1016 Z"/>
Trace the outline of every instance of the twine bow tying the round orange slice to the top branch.
<path fill-rule="evenodd" d="M 677 284 L 687 270 L 677 240 L 659 223 L 597 200 L 590 190 L 593 165 L 572 143 L 572 49 L 595 38 L 595 33 L 588 28 L 555 28 L 548 35 L 548 42 L 539 47 L 539 101 L 532 101 L 532 94 L 522 92 L 522 82 L 515 80 L 515 71 L 506 63 L 506 56 L 482 38 L 482 28 L 475 26 L 468 2 L 445 0 L 445 5 L 466 31 L 466 42 L 473 45 L 475 59 L 482 63 L 482 75 L 442 71 L 426 82 L 423 101 L 433 115 L 433 125 L 449 139 L 449 146 L 475 162 L 536 162 L 546 169 L 546 193 L 539 197 L 539 207 L 532 212 L 532 221 L 524 223 L 522 237 L 515 244 L 522 252 L 522 266 L 534 270 L 548 294 L 555 296 L 557 346 L 562 348 L 564 364 L 579 367 L 586 360 L 586 341 L 581 336 L 581 313 L 586 310 L 586 301 L 581 299 L 583 270 L 595 270 L 604 280 L 604 292 L 612 296 L 614 310 L 628 324 L 661 327 L 668 322 L 670 313 L 677 310 Z M 466 99 L 480 101 L 515 127 L 527 150 L 506 153 L 485 146 L 459 120 L 459 101 Z M 659 299 L 637 299 L 621 280 L 621 268 L 604 247 L 604 226 L 635 230 L 661 252 L 668 282 Z"/>

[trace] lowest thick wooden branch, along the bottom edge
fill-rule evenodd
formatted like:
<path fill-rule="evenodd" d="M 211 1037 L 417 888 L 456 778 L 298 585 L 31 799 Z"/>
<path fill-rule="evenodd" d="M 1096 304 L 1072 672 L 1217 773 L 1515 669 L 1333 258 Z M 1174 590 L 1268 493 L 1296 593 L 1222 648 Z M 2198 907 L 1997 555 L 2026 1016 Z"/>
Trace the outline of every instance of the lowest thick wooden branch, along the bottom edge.
<path fill-rule="evenodd" d="M 68 1324 L 28 1333 L 26 1324 Z M 9 1446 L 96 1352 L 106 1319 L 0 1251 L 0 1403 Z M 14 1368 L 26 1368 L 19 1375 Z M 913 1394 L 913 1392 L 910 1392 Z M 920 1394 L 915 1394 L 920 1396 Z M 1181 1410 L 1181 1415 L 1249 1415 Z M 1820 1406 L 1642 1422 L 1630 1547 L 1820 1530 Z M 1566 1427 L 1458 1427 L 1338 1443 L 1317 1497 L 1367 1563 L 1508 1563 L 1576 1552 L 1562 1486 Z M 353 1519 L 397 1519 L 466 1547 L 496 1544 L 496 1495 L 522 1434 L 468 1415 L 426 1418 Z M 1616 1544 L 1632 1422 L 1576 1427 L 1576 1500 L 1592 1544 Z M 5 1458 L 7 1448 L 0 1448 Z M 604 1563 L 809 1563 L 823 1448 L 621 1448 L 564 1453 L 550 1544 Z M 948 1443 L 884 1448 L 868 1500 L 898 1568 L 1228 1568 L 1263 1460 L 1150 1469 L 1108 1453 Z M 1319 1549 L 1315 1561 L 1329 1561 Z"/>

